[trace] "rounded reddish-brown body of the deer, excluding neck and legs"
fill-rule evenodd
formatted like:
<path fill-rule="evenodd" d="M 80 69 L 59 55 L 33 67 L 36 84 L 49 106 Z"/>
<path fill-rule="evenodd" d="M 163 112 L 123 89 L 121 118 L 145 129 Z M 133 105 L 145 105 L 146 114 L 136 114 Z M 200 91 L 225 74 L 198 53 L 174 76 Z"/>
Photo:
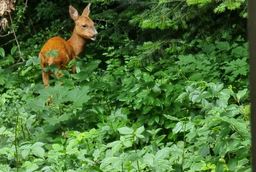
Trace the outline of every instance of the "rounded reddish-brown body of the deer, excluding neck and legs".
<path fill-rule="evenodd" d="M 58 57 L 45 56 L 45 53 L 50 50 L 58 50 Z M 41 58 L 41 68 L 43 69 L 54 63 L 67 66 L 70 60 L 75 57 L 75 53 L 73 47 L 63 38 L 53 37 L 45 43 L 39 56 Z"/>

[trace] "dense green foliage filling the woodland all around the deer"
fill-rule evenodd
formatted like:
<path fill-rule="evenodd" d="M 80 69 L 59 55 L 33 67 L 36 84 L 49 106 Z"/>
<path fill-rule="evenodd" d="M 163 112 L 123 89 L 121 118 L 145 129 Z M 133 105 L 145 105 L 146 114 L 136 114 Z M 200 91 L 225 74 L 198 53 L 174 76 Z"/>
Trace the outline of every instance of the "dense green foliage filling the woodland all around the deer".
<path fill-rule="evenodd" d="M 73 29 L 56 2 L 18 6 L 0 48 L 0 171 L 251 171 L 245 1 L 94 0 L 100 40 L 44 89 L 40 47 Z"/>

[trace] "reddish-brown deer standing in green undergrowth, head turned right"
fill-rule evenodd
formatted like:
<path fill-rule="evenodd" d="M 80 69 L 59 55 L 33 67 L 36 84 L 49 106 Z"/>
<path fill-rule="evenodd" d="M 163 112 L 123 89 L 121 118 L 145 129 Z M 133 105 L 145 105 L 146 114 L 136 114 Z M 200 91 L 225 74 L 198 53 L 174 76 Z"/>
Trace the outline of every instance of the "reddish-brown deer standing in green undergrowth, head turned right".
<path fill-rule="evenodd" d="M 96 34 L 98 33 L 94 28 L 93 21 L 89 18 L 89 8 L 90 3 L 84 9 L 83 14 L 80 16 L 73 6 L 69 6 L 70 17 L 75 21 L 73 34 L 67 41 L 60 37 L 53 37 L 45 43 L 41 52 L 39 53 L 41 58 L 40 65 L 42 69 L 51 64 L 56 64 L 59 70 L 67 69 L 66 66 L 68 66 L 70 60 L 77 60 L 75 56 L 78 56 L 82 52 L 86 41 L 96 40 Z M 58 57 L 45 56 L 45 54 L 51 50 L 58 50 Z M 75 73 L 75 68 L 76 66 L 72 67 L 72 73 Z M 48 81 L 51 74 L 54 73 L 51 71 L 42 73 L 42 79 L 46 89 L 49 87 Z M 59 78 L 63 76 L 63 74 L 57 72 L 56 76 Z"/>

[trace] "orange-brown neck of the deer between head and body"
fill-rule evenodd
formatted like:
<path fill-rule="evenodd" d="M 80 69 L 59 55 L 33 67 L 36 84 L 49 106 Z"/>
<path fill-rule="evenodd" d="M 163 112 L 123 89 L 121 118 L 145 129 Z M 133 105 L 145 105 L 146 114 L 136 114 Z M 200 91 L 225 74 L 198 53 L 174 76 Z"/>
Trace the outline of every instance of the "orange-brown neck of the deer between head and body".
<path fill-rule="evenodd" d="M 75 56 L 78 56 L 84 49 L 86 39 L 79 36 L 74 29 L 71 38 L 67 42 L 73 47 Z"/>

